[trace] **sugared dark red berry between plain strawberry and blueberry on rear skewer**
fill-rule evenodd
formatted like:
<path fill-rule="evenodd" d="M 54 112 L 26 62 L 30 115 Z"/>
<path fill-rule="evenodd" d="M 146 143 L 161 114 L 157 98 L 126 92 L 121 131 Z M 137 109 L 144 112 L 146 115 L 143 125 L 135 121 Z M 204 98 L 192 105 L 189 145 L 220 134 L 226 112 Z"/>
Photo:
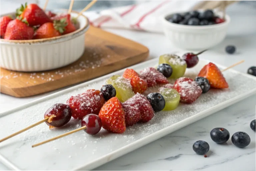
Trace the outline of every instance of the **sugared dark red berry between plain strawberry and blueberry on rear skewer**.
<path fill-rule="evenodd" d="M 140 71 L 140 76 L 142 79 L 147 81 L 148 87 L 156 86 L 157 84 L 167 84 L 169 81 L 167 78 L 157 69 L 149 67 Z"/>

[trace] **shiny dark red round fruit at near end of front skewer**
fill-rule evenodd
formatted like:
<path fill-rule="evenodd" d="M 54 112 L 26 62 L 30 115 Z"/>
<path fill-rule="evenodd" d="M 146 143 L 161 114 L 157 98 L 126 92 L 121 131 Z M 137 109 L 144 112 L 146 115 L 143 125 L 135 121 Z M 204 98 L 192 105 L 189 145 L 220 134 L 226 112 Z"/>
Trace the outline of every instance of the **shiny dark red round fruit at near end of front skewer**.
<path fill-rule="evenodd" d="M 83 117 L 81 124 L 82 124 L 82 127 L 86 126 L 86 129 L 84 129 L 84 131 L 90 135 L 97 134 L 102 127 L 100 117 L 95 114 L 89 114 Z"/>

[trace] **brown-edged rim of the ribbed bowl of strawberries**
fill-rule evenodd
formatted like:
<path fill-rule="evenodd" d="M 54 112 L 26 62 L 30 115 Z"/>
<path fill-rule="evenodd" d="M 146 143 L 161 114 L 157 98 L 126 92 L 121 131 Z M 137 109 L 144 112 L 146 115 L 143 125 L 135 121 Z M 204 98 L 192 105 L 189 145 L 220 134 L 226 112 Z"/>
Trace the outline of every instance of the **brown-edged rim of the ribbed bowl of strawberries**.
<path fill-rule="evenodd" d="M 67 11 L 66 9 L 59 9 L 61 11 Z M 6 16 L 6 15 L 13 15 L 14 13 L 8 13 L 8 14 L 3 14 L 1 16 Z M 72 11 L 71 14 L 78 14 L 76 11 Z M 72 33 L 68 33 L 65 35 L 57 36 L 57 37 L 52 37 L 52 38 L 45 38 L 45 39 L 33 39 L 33 40 L 6 40 L 6 39 L 0 39 L 0 44 L 43 44 L 43 43 L 56 43 L 56 42 L 61 42 L 61 41 L 66 41 L 69 39 L 72 39 L 74 37 L 77 37 L 81 34 L 84 34 L 86 30 L 89 28 L 89 20 L 86 16 L 80 15 L 78 17 L 78 20 L 83 20 L 86 23 L 84 24 L 83 27 L 80 27 L 76 31 Z"/>

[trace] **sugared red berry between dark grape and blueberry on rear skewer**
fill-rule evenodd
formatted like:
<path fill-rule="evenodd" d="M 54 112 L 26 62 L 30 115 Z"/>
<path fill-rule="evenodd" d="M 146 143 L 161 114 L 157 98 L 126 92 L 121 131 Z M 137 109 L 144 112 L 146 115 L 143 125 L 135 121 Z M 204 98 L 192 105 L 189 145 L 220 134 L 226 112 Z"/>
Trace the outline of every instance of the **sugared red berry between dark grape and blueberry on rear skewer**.
<path fill-rule="evenodd" d="M 71 96 L 67 100 L 67 105 L 72 109 L 72 117 L 83 119 L 88 114 L 99 114 L 105 99 L 99 90 L 89 89 L 82 94 Z"/>

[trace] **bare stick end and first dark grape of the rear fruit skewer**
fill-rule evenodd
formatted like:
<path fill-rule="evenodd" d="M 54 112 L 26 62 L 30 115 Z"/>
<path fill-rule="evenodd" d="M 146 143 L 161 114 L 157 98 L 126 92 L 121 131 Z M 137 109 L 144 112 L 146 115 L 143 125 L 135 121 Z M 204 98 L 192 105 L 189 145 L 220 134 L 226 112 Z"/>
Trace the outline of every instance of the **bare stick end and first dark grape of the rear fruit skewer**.
<path fill-rule="evenodd" d="M 41 123 L 44 123 L 44 122 L 46 122 L 46 124 L 49 125 L 50 128 L 64 126 L 70 121 L 71 116 L 72 116 L 71 108 L 68 105 L 57 103 L 57 104 L 53 105 L 52 107 L 50 107 L 45 112 L 43 120 L 41 120 L 37 123 L 34 123 L 33 125 L 30 125 L 16 133 L 13 133 L 13 134 L 1 139 L 0 143 L 18 135 L 18 134 L 21 134 L 37 125 L 40 125 Z"/>

